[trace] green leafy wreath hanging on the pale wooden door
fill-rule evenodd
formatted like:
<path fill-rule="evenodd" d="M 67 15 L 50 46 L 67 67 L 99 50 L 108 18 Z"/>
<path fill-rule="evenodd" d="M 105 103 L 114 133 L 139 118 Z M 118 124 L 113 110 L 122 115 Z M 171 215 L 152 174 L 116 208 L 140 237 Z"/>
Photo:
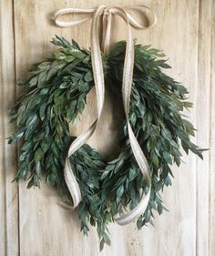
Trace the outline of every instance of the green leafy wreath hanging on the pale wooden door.
<path fill-rule="evenodd" d="M 9 143 L 21 141 L 15 180 L 29 180 L 28 189 L 39 187 L 44 174 L 46 182 L 56 186 L 63 200 L 72 204 L 63 174 L 67 148 L 75 139 L 68 124 L 82 114 L 94 79 L 89 51 L 58 36 L 52 43 L 61 48 L 36 64 L 29 79 L 20 83 L 26 90 L 11 111 L 16 130 Z M 118 42 L 102 56 L 106 81 L 119 99 L 125 47 L 125 42 Z M 186 153 L 191 150 L 202 159 L 203 149 L 189 139 L 195 129 L 180 113 L 192 107 L 186 101 L 188 90 L 162 72 L 162 68 L 169 68 L 166 60 L 160 59 L 163 56 L 158 49 L 135 45 L 129 121 L 152 177 L 148 208 L 137 220 L 138 229 L 152 223 L 155 210 L 159 214 L 165 210 L 160 191 L 171 185 L 170 166 L 181 162 L 180 145 Z M 148 191 L 130 148 L 126 121 L 120 129 L 117 159 L 107 162 L 86 144 L 70 158 L 82 193 L 78 207 L 81 230 L 87 234 L 88 223 L 96 226 L 100 249 L 110 243 L 108 222 L 124 208 L 137 206 L 142 193 Z"/>

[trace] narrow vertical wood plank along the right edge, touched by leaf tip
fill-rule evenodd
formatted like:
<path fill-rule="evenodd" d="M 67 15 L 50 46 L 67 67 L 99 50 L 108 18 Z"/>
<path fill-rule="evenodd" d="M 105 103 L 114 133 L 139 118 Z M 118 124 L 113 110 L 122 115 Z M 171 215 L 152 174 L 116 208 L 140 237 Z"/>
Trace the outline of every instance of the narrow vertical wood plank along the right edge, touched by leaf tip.
<path fill-rule="evenodd" d="M 197 141 L 202 148 L 210 148 L 211 126 L 211 29 L 213 1 L 200 0 L 200 32 L 199 32 L 199 81 L 197 87 Z M 211 118 L 211 119 L 210 119 Z M 203 125 L 202 125 L 203 124 Z M 204 160 L 197 159 L 197 255 L 210 255 L 210 156 L 214 148 L 204 152 Z M 212 176 L 213 177 L 213 176 Z M 211 191 L 212 192 L 212 191 Z M 212 237 L 211 237 L 212 239 Z M 214 254 L 213 254 L 214 255 Z"/>

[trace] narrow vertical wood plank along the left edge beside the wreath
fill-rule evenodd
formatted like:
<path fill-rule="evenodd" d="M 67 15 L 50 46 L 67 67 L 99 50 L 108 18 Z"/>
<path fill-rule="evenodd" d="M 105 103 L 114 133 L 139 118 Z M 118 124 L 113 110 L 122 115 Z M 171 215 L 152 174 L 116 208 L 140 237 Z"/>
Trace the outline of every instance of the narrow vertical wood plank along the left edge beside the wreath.
<path fill-rule="evenodd" d="M 18 255 L 18 189 L 11 183 L 16 171 L 16 148 L 7 145 L 14 126 L 8 109 L 15 103 L 13 2 L 0 3 L 0 254 Z"/>

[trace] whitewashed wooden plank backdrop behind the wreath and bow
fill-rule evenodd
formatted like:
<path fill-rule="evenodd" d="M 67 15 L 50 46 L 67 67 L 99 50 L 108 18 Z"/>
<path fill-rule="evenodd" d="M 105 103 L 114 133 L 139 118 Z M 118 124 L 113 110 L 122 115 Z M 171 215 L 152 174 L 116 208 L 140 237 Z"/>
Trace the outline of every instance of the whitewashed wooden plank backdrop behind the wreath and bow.
<path fill-rule="evenodd" d="M 147 4 L 158 15 L 157 26 L 147 31 L 133 30 L 142 44 L 162 48 L 173 69 L 170 75 L 183 82 L 195 104 L 189 112 L 198 128 L 195 142 L 203 148 L 204 161 L 184 157 L 175 169 L 172 188 L 164 192 L 169 212 L 141 231 L 135 224 L 111 226 L 112 245 L 98 251 L 97 234 L 88 237 L 79 231 L 76 212 L 68 213 L 56 205 L 56 191 L 26 189 L 26 183 L 11 183 L 17 168 L 17 148 L 5 138 L 14 130 L 8 124 L 8 109 L 20 94 L 15 80 L 25 77 L 31 64 L 48 56 L 49 44 L 57 34 L 74 38 L 89 46 L 89 24 L 59 28 L 50 21 L 56 9 L 65 6 L 95 7 L 101 4 Z M 113 41 L 126 36 L 126 27 L 115 20 Z M 0 2 L 0 255 L 22 256 L 213 256 L 215 255 L 215 1 L 87 1 L 87 0 L 1 0 Z M 87 118 L 77 132 L 95 115 L 93 94 L 88 99 Z M 106 134 L 116 132 L 114 108 L 105 110 L 91 145 L 105 153 L 113 141 Z M 103 132 L 102 132 L 103 129 Z M 101 143 L 102 141 L 102 143 Z"/>

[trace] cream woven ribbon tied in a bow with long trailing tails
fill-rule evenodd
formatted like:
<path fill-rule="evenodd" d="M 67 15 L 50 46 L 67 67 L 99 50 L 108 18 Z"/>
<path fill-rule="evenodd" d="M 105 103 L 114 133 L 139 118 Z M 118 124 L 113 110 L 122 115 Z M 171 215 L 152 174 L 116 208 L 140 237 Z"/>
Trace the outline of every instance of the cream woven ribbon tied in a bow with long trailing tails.
<path fill-rule="evenodd" d="M 144 26 L 139 23 L 130 13 L 131 10 L 137 10 L 141 12 L 142 15 L 145 15 L 142 9 L 148 9 L 152 12 L 154 20 L 152 24 Z M 59 17 L 67 14 L 77 14 L 77 15 L 87 15 L 87 17 L 73 20 L 73 21 L 61 21 Z M 128 112 L 129 112 L 129 101 L 130 93 L 133 79 L 133 67 L 134 67 L 134 43 L 131 36 L 131 26 L 138 29 L 146 29 L 152 27 L 157 22 L 157 16 L 146 5 L 135 5 L 129 7 L 118 7 L 118 6 L 106 6 L 101 5 L 93 9 L 80 9 L 80 8 L 63 8 L 56 11 L 54 15 L 54 21 L 57 26 L 70 27 L 77 26 L 79 24 L 85 23 L 86 21 L 92 19 L 91 24 L 91 33 L 90 33 L 90 49 L 91 49 L 91 61 L 93 68 L 93 76 L 96 87 L 97 94 L 97 120 L 87 129 L 84 133 L 78 136 L 73 143 L 70 145 L 67 153 L 67 159 L 64 169 L 64 175 L 67 182 L 67 187 L 70 191 L 70 194 L 73 199 L 73 208 L 76 208 L 79 202 L 81 201 L 81 192 L 77 183 L 77 179 L 73 173 L 71 165 L 69 163 L 69 157 L 83 144 L 87 142 L 87 139 L 92 136 L 95 129 L 97 128 L 97 121 L 101 116 L 101 111 L 104 105 L 105 99 L 105 81 L 104 81 L 104 72 L 102 67 L 102 58 L 100 53 L 100 39 L 99 33 L 102 28 L 102 43 L 101 49 L 104 53 L 107 53 L 110 46 L 110 34 L 111 34 L 111 21 L 112 15 L 119 15 L 127 24 L 128 27 L 128 40 L 126 46 L 126 55 L 124 61 L 124 70 L 123 70 L 123 79 L 122 79 L 122 99 L 123 106 L 126 113 L 127 125 L 128 125 L 128 137 L 130 141 L 130 146 L 134 154 L 135 159 L 137 160 L 138 167 L 141 170 L 143 176 L 147 179 L 148 182 L 148 192 L 145 196 L 142 196 L 142 199 L 133 210 L 128 211 L 128 213 L 123 216 L 115 219 L 118 224 L 126 225 L 129 222 L 136 220 L 138 216 L 143 214 L 148 207 L 148 201 L 150 197 L 150 188 L 151 188 L 151 178 L 150 171 L 148 167 L 148 161 L 144 156 L 144 153 L 140 146 L 138 145 L 138 140 L 135 137 L 135 134 L 130 126 Z"/>

